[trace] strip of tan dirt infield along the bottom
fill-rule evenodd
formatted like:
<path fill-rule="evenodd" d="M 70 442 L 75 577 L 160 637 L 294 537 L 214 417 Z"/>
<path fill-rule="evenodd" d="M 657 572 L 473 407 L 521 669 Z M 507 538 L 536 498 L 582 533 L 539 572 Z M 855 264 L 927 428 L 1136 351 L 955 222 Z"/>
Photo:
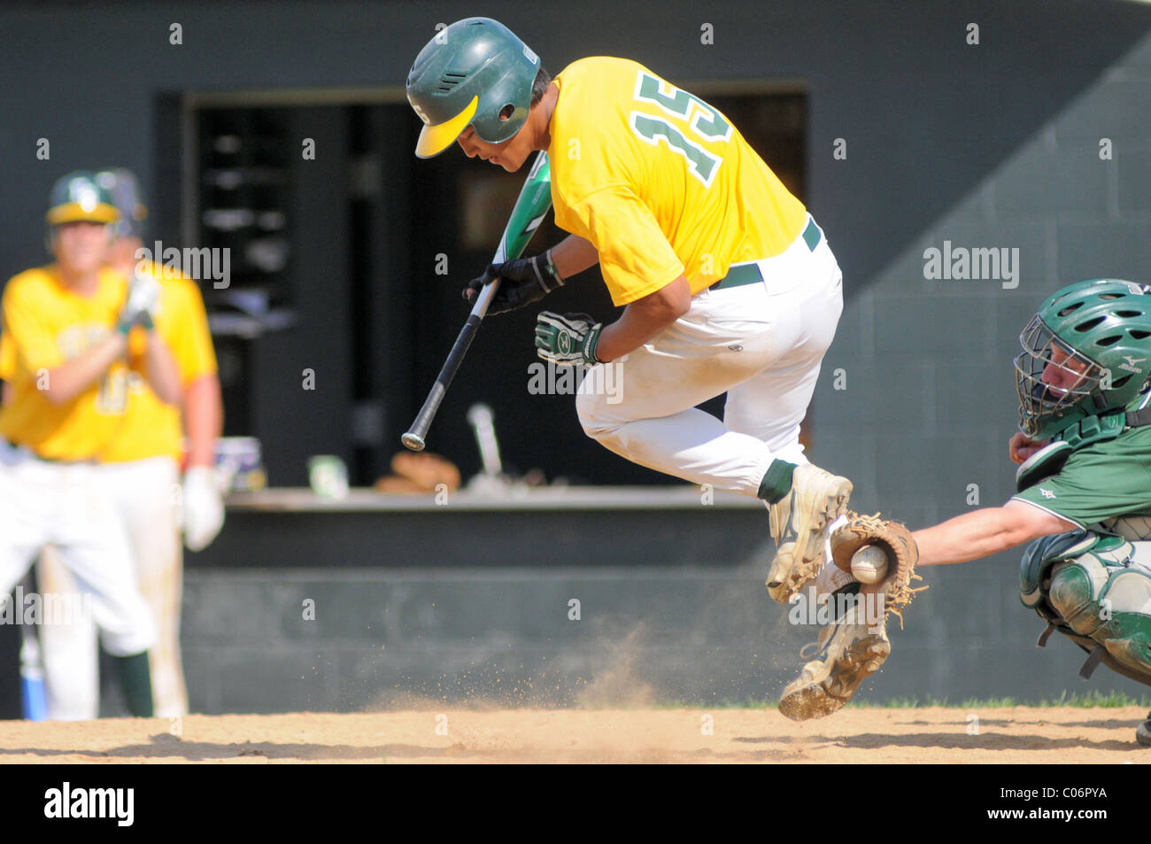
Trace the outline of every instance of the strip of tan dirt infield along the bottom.
<path fill-rule="evenodd" d="M 849 708 L 802 724 L 768 709 L 420 709 L 190 715 L 178 723 L 8 721 L 0 722 L 0 762 L 1138 763 L 1151 761 L 1151 748 L 1135 744 L 1135 727 L 1145 716 L 1135 707 L 924 707 Z"/>

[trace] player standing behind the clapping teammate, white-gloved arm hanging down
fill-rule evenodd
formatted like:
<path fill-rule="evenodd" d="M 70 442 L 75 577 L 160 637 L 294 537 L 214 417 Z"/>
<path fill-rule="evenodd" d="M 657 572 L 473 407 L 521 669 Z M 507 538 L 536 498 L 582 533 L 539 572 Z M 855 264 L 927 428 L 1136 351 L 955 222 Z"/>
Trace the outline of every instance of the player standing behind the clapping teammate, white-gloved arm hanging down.
<path fill-rule="evenodd" d="M 159 283 L 157 332 L 180 367 L 181 406 L 165 404 L 142 379 L 129 378 L 122 424 L 99 451 L 96 469 L 97 480 L 128 532 L 139 588 L 157 625 L 157 644 L 151 651 L 155 714 L 176 717 L 188 713 L 180 653 L 183 557 L 177 516 L 182 504 L 185 542 L 192 550 L 206 547 L 223 524 L 223 503 L 213 469 L 214 444 L 223 421 L 220 381 L 196 283 L 171 268 L 166 272 L 160 265 L 143 266 L 136 259 L 147 215 L 136 176 L 117 168 L 102 170 L 96 177 L 120 212 L 108 265 L 125 277 L 139 271 Z M 188 467 L 176 496 L 182 421 L 188 433 Z M 37 575 L 45 592 L 76 591 L 73 577 L 55 554 L 41 555 Z M 98 716 L 94 633 L 92 624 L 83 618 L 40 628 L 49 718 L 79 721 Z"/>

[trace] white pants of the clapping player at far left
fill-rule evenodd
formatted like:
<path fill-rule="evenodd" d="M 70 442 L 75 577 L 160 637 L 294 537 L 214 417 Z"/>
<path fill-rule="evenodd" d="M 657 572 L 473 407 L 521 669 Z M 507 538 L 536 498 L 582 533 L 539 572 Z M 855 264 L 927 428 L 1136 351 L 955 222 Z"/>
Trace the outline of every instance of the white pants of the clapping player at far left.
<path fill-rule="evenodd" d="M 136 586 L 128 539 L 97 482 L 96 467 L 40 461 L 0 441 L 0 595 L 13 590 L 48 543 L 87 598 L 77 603 L 90 609 L 89 623 L 99 628 L 108 653 L 129 656 L 151 648 L 152 614 Z M 48 608 L 43 600 L 40 606 Z"/>

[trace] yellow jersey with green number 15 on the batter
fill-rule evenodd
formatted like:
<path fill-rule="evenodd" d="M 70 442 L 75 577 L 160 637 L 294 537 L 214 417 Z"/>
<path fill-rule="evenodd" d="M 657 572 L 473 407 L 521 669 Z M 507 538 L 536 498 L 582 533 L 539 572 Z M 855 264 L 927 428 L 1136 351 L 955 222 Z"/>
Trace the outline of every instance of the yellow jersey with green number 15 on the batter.
<path fill-rule="evenodd" d="M 680 274 L 692 294 L 731 264 L 783 252 L 807 211 L 717 109 L 634 61 L 595 56 L 556 77 L 556 225 L 590 241 L 616 305 Z"/>

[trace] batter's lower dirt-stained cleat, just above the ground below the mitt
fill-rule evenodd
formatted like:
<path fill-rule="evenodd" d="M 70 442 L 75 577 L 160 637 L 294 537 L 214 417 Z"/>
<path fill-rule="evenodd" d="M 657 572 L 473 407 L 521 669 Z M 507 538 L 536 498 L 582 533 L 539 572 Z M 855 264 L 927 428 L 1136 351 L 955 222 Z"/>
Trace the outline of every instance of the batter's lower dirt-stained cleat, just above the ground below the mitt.
<path fill-rule="evenodd" d="M 779 698 L 779 712 L 792 721 L 822 718 L 844 707 L 860 684 L 879 670 L 891 653 L 882 617 L 868 623 L 863 605 L 853 605 L 820 633 L 823 660 L 803 666 Z"/>

